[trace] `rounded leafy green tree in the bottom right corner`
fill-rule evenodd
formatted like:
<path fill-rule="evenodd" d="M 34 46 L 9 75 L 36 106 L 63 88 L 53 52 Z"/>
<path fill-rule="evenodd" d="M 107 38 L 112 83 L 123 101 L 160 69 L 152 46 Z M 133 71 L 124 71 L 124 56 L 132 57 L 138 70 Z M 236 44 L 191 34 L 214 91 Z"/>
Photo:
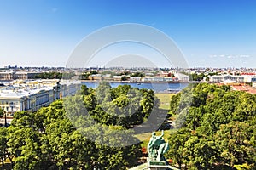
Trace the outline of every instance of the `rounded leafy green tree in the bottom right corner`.
<path fill-rule="evenodd" d="M 252 163 L 250 160 L 252 151 L 255 155 L 255 148 L 250 144 L 251 132 L 246 122 L 230 122 L 223 124 L 215 134 L 216 144 L 220 151 L 222 161 L 229 163 L 230 167 L 242 162 Z"/>

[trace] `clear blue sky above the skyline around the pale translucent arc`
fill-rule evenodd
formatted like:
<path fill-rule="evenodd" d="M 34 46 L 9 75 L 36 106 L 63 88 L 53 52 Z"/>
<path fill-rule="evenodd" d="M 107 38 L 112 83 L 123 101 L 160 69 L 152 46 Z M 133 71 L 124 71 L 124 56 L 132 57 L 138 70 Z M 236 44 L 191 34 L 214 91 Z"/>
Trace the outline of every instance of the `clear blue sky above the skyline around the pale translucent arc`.
<path fill-rule="evenodd" d="M 0 0 L 0 23 L 1 67 L 65 66 L 85 36 L 120 23 L 165 32 L 190 67 L 255 67 L 256 63 L 254 0 Z M 128 45 L 131 53 L 135 46 Z M 122 51 L 120 45 L 116 49 Z M 147 55 L 143 51 L 147 48 L 140 50 Z M 157 60 L 155 65 L 166 65 L 151 50 L 149 55 Z M 101 57 L 91 65 L 103 65 Z"/>

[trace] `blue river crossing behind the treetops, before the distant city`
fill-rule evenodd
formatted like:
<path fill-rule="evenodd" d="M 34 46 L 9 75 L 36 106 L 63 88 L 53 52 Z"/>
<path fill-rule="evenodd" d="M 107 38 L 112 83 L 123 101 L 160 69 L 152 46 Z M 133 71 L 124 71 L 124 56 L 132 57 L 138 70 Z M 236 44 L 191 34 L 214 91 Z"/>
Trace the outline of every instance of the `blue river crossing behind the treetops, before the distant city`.
<path fill-rule="evenodd" d="M 88 88 L 96 88 L 99 84 L 99 82 L 82 82 L 82 84 L 85 84 Z M 135 83 L 135 82 L 110 82 L 110 85 L 112 88 L 116 88 L 119 85 L 128 84 L 131 85 L 132 88 L 147 88 L 152 89 L 154 92 L 158 93 L 173 93 L 178 92 L 182 90 L 183 88 L 186 88 L 189 83 L 180 83 L 180 82 L 152 82 L 152 83 Z"/>

